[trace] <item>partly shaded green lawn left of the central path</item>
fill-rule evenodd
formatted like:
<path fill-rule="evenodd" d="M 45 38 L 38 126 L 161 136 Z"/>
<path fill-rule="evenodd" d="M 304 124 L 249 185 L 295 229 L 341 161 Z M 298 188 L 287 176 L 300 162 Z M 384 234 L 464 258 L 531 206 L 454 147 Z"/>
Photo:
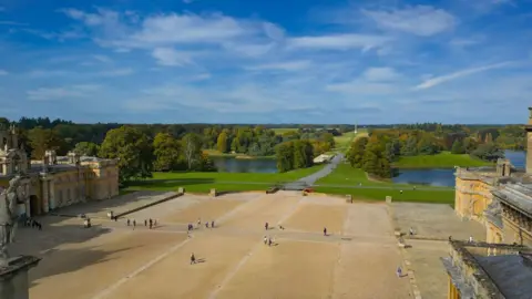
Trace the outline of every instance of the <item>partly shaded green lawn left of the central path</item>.
<path fill-rule="evenodd" d="M 310 175 L 324 165 L 296 169 L 283 174 L 259 173 L 153 173 L 153 178 L 133 182 L 126 190 L 177 190 L 208 193 L 211 188 L 221 192 L 266 190 L 278 182 L 294 182 Z"/>

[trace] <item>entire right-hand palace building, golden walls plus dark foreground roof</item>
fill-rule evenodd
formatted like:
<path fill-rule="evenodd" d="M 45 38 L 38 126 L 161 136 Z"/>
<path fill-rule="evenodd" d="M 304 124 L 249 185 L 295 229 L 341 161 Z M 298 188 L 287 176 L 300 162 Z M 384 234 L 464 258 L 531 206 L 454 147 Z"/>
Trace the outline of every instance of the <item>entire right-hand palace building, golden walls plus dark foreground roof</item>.
<path fill-rule="evenodd" d="M 532 107 L 525 125 L 524 169 L 508 159 L 495 167 L 457 168 L 454 210 L 485 227 L 485 243 L 450 241 L 442 258 L 449 299 L 532 298 Z"/>

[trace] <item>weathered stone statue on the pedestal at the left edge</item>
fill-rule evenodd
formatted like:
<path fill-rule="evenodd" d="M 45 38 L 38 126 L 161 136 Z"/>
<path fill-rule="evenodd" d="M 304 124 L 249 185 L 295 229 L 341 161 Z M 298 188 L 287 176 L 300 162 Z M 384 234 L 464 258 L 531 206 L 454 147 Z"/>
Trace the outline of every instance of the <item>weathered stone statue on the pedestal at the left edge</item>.
<path fill-rule="evenodd" d="M 17 205 L 22 203 L 24 192 L 21 177 L 9 181 L 9 187 L 0 194 L 0 265 L 9 259 L 8 245 L 13 243 L 17 220 Z"/>

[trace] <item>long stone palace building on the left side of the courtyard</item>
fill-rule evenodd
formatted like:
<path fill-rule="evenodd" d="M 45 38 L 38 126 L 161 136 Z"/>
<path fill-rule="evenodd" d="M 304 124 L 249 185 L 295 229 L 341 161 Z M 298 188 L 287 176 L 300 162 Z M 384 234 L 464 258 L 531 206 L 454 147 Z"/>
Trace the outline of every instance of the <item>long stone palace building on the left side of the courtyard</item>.
<path fill-rule="evenodd" d="M 0 189 L 14 176 L 22 177 L 19 214 L 33 216 L 72 204 L 102 200 L 119 195 L 116 161 L 80 156 L 70 152 L 57 156 L 47 151 L 43 161 L 30 161 L 19 145 L 17 130 L 0 127 Z"/>

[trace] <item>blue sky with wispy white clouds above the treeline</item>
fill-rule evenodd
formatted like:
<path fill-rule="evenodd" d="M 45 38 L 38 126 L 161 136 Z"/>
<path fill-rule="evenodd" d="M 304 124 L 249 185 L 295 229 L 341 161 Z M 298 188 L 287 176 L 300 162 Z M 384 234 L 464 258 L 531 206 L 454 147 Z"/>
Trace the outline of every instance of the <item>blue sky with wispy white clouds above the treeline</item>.
<path fill-rule="evenodd" d="M 532 0 L 0 0 L 0 56 L 10 118 L 524 123 Z"/>

